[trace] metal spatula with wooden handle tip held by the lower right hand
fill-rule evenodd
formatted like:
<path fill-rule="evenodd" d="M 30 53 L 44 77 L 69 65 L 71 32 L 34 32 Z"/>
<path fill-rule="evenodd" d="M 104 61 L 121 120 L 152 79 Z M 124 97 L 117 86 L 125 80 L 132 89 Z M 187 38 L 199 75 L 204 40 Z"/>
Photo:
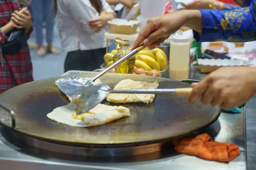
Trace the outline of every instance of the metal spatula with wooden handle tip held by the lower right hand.
<path fill-rule="evenodd" d="M 109 93 L 116 94 L 176 94 L 189 95 L 192 88 L 111 90 L 106 84 L 88 86 L 79 98 L 76 115 L 85 113 L 101 103 Z"/>

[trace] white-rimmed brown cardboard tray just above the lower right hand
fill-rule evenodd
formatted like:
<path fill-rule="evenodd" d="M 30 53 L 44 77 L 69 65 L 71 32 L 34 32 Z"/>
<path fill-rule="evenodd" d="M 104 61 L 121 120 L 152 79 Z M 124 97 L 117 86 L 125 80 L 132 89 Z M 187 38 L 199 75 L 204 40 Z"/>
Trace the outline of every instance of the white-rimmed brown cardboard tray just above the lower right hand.
<path fill-rule="evenodd" d="M 240 59 L 198 59 L 201 73 L 211 73 L 225 66 L 244 66 Z"/>

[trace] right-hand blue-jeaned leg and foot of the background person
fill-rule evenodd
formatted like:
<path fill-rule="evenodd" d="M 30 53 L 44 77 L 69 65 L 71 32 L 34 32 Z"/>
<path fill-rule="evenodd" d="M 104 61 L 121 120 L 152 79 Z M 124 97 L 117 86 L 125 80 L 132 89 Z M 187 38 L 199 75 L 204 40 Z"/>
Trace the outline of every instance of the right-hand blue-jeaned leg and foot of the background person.
<path fill-rule="evenodd" d="M 46 40 L 48 44 L 48 51 L 53 54 L 58 54 L 58 50 L 52 47 L 53 40 L 53 29 L 54 29 L 54 10 L 53 10 L 53 1 L 44 0 L 44 14 L 46 22 Z"/>

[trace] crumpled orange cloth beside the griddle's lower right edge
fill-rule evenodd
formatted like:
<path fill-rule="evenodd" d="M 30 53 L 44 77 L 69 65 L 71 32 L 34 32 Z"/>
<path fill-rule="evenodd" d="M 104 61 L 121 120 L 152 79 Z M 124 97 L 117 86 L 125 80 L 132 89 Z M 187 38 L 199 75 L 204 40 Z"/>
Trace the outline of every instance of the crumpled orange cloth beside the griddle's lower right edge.
<path fill-rule="evenodd" d="M 176 152 L 210 161 L 230 162 L 240 154 L 237 145 L 215 142 L 206 133 L 183 139 L 174 139 L 172 142 L 175 145 Z"/>

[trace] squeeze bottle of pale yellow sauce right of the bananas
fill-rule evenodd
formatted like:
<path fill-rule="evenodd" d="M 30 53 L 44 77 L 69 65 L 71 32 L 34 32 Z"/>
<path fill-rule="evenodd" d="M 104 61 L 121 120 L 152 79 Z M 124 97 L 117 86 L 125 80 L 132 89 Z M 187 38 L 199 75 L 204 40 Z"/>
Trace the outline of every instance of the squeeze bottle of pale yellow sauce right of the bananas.
<path fill-rule="evenodd" d="M 182 80 L 189 79 L 189 37 L 179 30 L 172 36 L 169 61 L 169 78 Z"/>

